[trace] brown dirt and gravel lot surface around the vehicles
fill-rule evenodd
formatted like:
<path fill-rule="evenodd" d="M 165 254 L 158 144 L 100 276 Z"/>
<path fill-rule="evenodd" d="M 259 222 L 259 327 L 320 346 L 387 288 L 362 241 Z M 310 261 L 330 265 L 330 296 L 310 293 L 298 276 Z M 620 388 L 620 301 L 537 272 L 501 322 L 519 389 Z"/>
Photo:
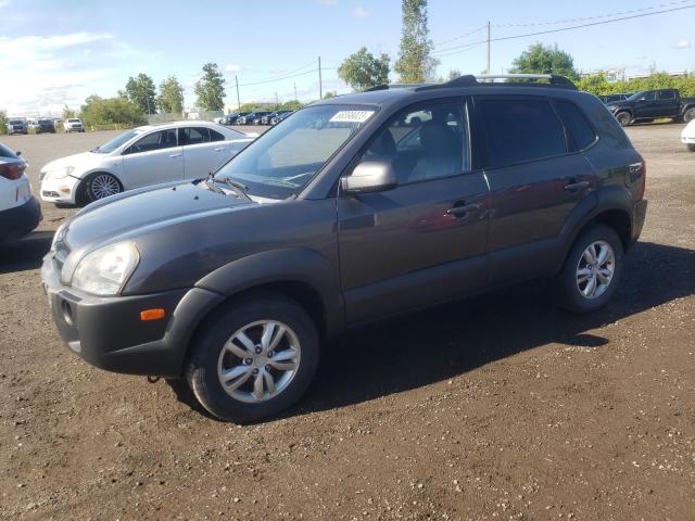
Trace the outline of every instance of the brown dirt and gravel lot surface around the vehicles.
<path fill-rule="evenodd" d="M 352 333 L 305 399 L 250 427 L 63 345 L 50 230 L 0 250 L 0 518 L 695 519 L 695 154 L 632 127 L 641 243 L 602 313 L 542 284 Z M 108 132 L 2 138 L 39 167 Z M 185 396 L 184 396 L 185 397 Z"/>

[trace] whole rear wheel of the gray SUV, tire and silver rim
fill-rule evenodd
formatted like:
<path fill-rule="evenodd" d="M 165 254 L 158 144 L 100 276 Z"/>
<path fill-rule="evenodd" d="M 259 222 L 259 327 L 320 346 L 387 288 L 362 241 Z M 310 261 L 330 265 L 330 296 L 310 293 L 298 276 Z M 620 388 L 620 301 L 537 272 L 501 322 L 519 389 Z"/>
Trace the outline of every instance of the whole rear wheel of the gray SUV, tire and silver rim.
<path fill-rule="evenodd" d="M 612 228 L 593 225 L 574 241 L 555 280 L 559 304 L 572 312 L 601 309 L 622 275 L 622 242 Z"/>

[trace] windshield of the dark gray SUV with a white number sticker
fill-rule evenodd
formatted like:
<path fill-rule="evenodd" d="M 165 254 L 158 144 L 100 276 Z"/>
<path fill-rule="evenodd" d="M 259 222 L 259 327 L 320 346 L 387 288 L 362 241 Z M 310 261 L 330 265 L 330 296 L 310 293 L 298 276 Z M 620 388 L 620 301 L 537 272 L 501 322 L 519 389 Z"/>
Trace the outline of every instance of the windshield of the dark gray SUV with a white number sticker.
<path fill-rule="evenodd" d="M 240 181 L 254 195 L 295 195 L 375 112 L 355 105 L 298 111 L 223 166 L 217 177 Z"/>

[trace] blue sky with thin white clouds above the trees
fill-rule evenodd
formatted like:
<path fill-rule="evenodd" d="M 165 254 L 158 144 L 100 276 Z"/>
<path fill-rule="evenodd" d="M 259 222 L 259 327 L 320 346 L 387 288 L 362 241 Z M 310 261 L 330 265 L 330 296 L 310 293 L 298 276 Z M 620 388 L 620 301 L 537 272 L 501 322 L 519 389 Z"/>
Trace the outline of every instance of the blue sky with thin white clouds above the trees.
<path fill-rule="evenodd" d="M 495 38 L 592 22 L 558 20 L 686 5 L 695 5 L 695 0 L 430 0 L 429 27 L 440 75 L 451 68 L 480 73 L 485 46 L 457 46 L 484 39 L 481 28 L 488 21 Z M 157 85 L 175 74 L 185 86 L 187 105 L 192 105 L 193 85 L 205 62 L 224 69 L 226 101 L 236 106 L 235 75 L 242 103 L 274 101 L 276 92 L 280 101 L 293 99 L 294 85 L 302 101 L 316 99 L 318 73 L 313 69 L 318 55 L 325 67 L 324 91 L 349 91 L 336 71 L 346 55 L 366 46 L 397 56 L 401 1 L 0 0 L 0 109 L 12 114 L 78 107 L 90 93 L 114 96 L 139 72 Z M 492 71 L 509 67 L 535 42 L 557 43 L 584 71 L 642 73 L 652 65 L 695 71 L 695 9 L 493 42 Z"/>

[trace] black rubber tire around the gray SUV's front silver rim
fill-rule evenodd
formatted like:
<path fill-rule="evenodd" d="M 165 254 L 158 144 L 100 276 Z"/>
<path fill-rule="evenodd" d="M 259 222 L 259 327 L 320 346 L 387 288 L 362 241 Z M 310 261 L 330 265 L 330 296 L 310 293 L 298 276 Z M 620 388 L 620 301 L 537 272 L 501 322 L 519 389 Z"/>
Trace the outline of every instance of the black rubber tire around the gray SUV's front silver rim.
<path fill-rule="evenodd" d="M 228 394 L 217 371 L 225 344 L 237 331 L 260 320 L 275 320 L 289 327 L 299 340 L 301 356 L 293 377 L 282 391 L 262 402 L 249 403 Z M 299 304 L 283 295 L 263 292 L 230 303 L 208 317 L 201 331 L 191 345 L 186 379 L 200 404 L 222 420 L 249 423 L 273 417 L 296 403 L 316 373 L 320 353 L 316 326 Z M 248 384 L 255 378 L 258 377 L 248 377 Z"/>

